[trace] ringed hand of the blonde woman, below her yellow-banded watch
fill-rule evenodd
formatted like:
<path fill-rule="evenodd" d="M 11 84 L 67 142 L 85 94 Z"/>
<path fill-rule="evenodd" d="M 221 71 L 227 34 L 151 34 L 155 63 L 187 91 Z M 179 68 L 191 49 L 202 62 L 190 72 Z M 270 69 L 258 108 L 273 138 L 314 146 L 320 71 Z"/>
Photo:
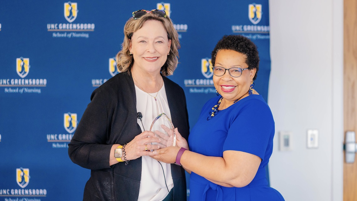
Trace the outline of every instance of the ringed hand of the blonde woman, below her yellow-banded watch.
<path fill-rule="evenodd" d="M 153 156 L 150 150 L 161 149 L 166 146 L 160 144 L 162 140 L 158 137 L 155 137 L 154 132 L 151 131 L 144 131 L 141 134 L 134 137 L 133 140 L 128 142 L 125 145 L 125 160 L 134 160 L 141 156 Z M 157 144 L 152 145 L 153 142 L 157 142 Z M 146 147 L 145 147 L 146 145 Z M 147 148 L 148 151 L 145 151 Z M 122 157 L 124 159 L 124 157 Z"/>

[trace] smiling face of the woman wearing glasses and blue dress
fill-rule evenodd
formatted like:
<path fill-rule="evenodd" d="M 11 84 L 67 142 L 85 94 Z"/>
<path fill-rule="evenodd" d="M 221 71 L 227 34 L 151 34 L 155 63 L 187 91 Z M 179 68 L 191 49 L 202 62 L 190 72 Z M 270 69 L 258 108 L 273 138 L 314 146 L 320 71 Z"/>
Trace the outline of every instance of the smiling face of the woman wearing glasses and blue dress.
<path fill-rule="evenodd" d="M 246 55 L 234 50 L 219 50 L 215 65 L 230 69 L 232 67 L 248 68 Z M 213 83 L 218 91 L 228 102 L 234 102 L 248 96 L 251 81 L 256 69 L 243 70 L 240 77 L 232 77 L 228 71 L 223 76 L 213 75 Z"/>

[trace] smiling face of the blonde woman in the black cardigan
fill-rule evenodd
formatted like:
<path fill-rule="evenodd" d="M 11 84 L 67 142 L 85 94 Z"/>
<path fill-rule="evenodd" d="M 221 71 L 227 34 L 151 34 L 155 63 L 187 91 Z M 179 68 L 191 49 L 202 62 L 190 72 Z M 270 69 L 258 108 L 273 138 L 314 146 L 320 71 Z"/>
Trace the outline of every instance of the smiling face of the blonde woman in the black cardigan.
<path fill-rule="evenodd" d="M 146 21 L 133 33 L 130 40 L 129 50 L 134 58 L 132 69 L 160 74 L 170 46 L 171 40 L 168 39 L 162 23 L 156 20 Z"/>

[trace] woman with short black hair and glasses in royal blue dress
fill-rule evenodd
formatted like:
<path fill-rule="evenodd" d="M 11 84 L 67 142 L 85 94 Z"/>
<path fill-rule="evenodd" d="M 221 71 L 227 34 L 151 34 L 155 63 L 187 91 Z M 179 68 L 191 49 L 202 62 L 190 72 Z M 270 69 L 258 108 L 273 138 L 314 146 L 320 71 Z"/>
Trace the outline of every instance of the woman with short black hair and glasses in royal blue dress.
<path fill-rule="evenodd" d="M 218 96 L 203 106 L 188 137 L 190 146 L 155 150 L 153 157 L 190 173 L 190 200 L 283 201 L 266 180 L 275 124 L 253 88 L 256 45 L 244 36 L 223 36 L 211 61 Z M 184 141 L 177 130 L 176 137 Z"/>

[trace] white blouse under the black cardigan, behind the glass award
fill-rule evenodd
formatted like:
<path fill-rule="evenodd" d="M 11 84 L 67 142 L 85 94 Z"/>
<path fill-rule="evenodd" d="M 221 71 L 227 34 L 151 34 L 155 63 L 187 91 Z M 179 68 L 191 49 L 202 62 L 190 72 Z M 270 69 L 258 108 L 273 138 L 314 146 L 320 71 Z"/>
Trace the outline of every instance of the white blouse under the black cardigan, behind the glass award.
<path fill-rule="evenodd" d="M 135 86 L 136 92 L 136 111 L 142 114 L 142 124 L 145 131 L 150 130 L 152 121 L 165 113 L 171 119 L 169 104 L 167 102 L 165 84 L 162 85 L 159 93 L 151 93 L 150 96 L 139 87 Z M 154 97 L 156 96 L 156 101 Z M 144 131 L 140 119 L 137 119 L 141 131 Z M 164 200 L 169 191 L 174 187 L 171 175 L 171 165 L 152 159 L 150 156 L 141 157 L 141 181 L 138 201 L 157 201 Z M 161 165 L 162 167 L 161 167 Z M 164 171 L 162 171 L 164 169 Z M 164 177 L 165 174 L 165 177 Z M 166 179 L 166 184 L 165 184 Z"/>

